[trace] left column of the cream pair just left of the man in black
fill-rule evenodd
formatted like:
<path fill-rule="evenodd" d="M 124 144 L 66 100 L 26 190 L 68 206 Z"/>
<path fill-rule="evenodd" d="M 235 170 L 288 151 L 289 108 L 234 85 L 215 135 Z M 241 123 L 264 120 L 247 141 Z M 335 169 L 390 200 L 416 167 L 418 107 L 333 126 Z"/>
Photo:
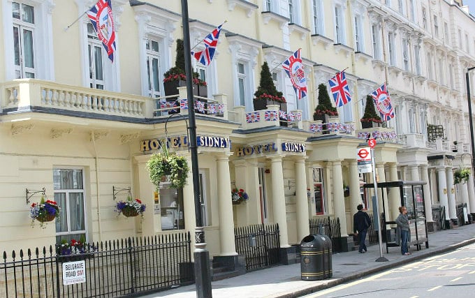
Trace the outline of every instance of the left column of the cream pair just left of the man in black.
<path fill-rule="evenodd" d="M 340 232 L 342 237 L 348 237 L 346 230 L 346 211 L 344 207 L 343 195 L 343 175 L 342 161 L 332 161 L 333 172 L 333 206 L 335 207 L 335 218 L 339 218 Z"/>

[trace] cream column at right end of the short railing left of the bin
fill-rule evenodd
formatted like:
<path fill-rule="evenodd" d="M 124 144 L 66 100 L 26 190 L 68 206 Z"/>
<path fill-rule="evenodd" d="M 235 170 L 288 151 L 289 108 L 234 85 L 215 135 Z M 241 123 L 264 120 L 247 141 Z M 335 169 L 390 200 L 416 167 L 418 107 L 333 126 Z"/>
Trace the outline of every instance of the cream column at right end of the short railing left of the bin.
<path fill-rule="evenodd" d="M 280 247 L 290 247 L 288 245 L 287 215 L 284 195 L 284 171 L 282 169 L 282 156 L 272 156 L 272 212 L 274 222 L 279 224 Z"/>

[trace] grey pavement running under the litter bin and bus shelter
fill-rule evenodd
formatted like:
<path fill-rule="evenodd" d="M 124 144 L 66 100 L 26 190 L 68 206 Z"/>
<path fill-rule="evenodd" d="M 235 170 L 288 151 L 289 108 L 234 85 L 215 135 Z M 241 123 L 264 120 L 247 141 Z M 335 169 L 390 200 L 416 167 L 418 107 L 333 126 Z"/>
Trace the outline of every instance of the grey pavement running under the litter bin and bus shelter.
<path fill-rule="evenodd" d="M 334 253 L 333 276 L 322 281 L 302 281 L 300 277 L 300 263 L 281 265 L 251 271 L 247 274 L 226 278 L 222 281 L 213 281 L 213 298 L 293 298 L 308 295 L 312 292 L 331 288 L 335 285 L 353 281 L 358 278 L 375 274 L 379 271 L 399 267 L 416 260 L 428 258 L 462 246 L 475 243 L 475 224 L 464 225 L 459 228 L 434 232 L 428 235 L 429 248 L 425 244 L 417 251 L 411 246 L 411 255 L 401 255 L 400 247 L 390 247 L 386 253 L 386 244 L 383 244 L 383 257 L 388 262 L 376 262 L 380 256 L 379 244 L 368 246 L 367 253 L 350 251 Z M 142 297 L 169 297 L 193 298 L 196 297 L 196 286 L 186 285 L 152 295 Z"/>

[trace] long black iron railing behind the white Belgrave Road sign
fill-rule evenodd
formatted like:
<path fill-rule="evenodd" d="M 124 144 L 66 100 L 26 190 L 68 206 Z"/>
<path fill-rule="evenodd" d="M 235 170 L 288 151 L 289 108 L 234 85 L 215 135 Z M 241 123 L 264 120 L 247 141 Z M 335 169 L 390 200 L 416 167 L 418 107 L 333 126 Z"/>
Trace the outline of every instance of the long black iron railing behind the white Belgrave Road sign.
<path fill-rule="evenodd" d="M 80 255 L 57 255 L 53 246 L 3 252 L 0 298 L 127 297 L 193 283 L 190 241 L 188 232 L 105 241 Z M 86 281 L 64 285 L 66 263 L 82 260 Z"/>

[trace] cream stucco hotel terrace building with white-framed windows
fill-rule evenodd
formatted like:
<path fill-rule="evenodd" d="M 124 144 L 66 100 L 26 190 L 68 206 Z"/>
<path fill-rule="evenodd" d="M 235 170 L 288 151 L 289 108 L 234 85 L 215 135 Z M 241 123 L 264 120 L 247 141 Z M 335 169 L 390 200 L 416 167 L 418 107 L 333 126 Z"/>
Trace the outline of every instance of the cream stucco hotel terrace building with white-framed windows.
<path fill-rule="evenodd" d="M 180 1 L 112 0 L 113 62 L 84 13 L 94 3 L 0 1 L 1 251 L 195 228 L 191 172 L 184 188 L 156 194 L 145 167 L 164 139 L 191 161 L 187 110 L 168 119 L 162 104 L 163 73 L 183 38 Z M 235 227 L 271 223 L 291 253 L 309 234 L 309 219 L 319 217 L 339 218 L 344 250 L 351 249 L 356 206 L 373 210 L 362 187 L 372 177 L 358 173 L 356 156 L 369 135 L 377 140 L 380 182 L 427 182 L 430 229 L 432 208 L 444 207 L 452 224 L 460 204 L 475 212 L 472 177 L 453 184 L 455 170 L 471 167 L 472 158 L 465 73 L 475 66 L 475 19 L 462 0 L 193 0 L 189 17 L 191 45 L 227 20 L 212 64 L 192 62 L 207 82 L 207 107 L 221 107 L 196 114 L 210 258 L 237 254 Z M 281 66 L 299 48 L 308 82 L 302 100 Z M 254 111 L 265 61 L 293 114 L 288 121 L 265 119 L 278 105 Z M 343 69 L 352 100 L 321 131 L 313 118 L 317 87 L 329 89 Z M 366 96 L 385 81 L 395 118 L 363 129 Z M 186 89 L 175 94 L 186 98 Z M 249 123 L 254 112 L 260 118 Z M 232 204 L 234 187 L 249 201 Z M 40 194 L 31 191 L 42 188 L 59 202 L 61 220 L 31 228 L 29 205 Z M 147 204 L 142 218 L 114 211 L 129 189 Z M 388 191 L 384 200 L 394 219 L 399 194 Z"/>

